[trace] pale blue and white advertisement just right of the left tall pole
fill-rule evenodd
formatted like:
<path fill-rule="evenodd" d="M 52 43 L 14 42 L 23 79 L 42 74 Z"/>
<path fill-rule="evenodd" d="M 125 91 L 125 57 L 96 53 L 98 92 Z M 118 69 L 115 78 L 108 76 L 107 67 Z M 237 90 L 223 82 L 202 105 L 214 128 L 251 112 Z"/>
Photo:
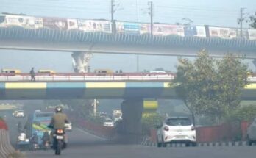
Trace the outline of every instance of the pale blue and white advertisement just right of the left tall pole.
<path fill-rule="evenodd" d="M 116 32 L 119 33 L 135 33 L 138 34 L 140 32 L 140 24 L 138 23 L 128 23 L 117 21 L 116 24 Z"/>

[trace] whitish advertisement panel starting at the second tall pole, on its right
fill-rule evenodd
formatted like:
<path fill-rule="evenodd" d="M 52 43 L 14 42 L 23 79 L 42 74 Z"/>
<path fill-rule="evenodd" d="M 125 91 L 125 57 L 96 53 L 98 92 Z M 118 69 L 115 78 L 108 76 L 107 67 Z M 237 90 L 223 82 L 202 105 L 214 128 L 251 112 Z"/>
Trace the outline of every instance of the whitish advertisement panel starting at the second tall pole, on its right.
<path fill-rule="evenodd" d="M 184 28 L 179 25 L 154 24 L 153 35 L 179 35 L 184 36 Z"/>

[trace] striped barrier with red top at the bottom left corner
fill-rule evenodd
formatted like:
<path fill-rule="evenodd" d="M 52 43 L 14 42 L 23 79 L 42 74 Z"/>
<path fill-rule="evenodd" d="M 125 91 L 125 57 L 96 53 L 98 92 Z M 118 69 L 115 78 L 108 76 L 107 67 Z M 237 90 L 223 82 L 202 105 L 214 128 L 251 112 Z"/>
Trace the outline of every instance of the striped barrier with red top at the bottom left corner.
<path fill-rule="evenodd" d="M 15 149 L 10 144 L 7 124 L 3 120 L 0 120 L 0 157 L 7 158 L 14 152 Z"/>

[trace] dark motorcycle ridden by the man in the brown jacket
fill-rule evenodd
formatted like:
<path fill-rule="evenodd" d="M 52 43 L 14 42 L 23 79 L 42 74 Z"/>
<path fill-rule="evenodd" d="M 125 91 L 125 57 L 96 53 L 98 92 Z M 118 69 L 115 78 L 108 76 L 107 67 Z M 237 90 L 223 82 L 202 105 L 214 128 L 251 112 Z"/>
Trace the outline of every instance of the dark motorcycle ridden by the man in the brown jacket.
<path fill-rule="evenodd" d="M 56 129 L 53 136 L 54 136 L 55 154 L 60 155 L 61 150 L 65 148 L 65 130 Z"/>

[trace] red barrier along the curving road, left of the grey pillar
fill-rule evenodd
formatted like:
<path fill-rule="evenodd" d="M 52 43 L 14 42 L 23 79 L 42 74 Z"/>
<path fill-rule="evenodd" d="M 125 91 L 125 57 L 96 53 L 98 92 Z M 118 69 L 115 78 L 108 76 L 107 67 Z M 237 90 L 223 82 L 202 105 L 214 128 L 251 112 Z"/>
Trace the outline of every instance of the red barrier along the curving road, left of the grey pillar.
<path fill-rule="evenodd" d="M 88 132 L 95 134 L 99 137 L 106 138 L 107 140 L 112 139 L 115 137 L 115 128 L 114 127 L 107 127 L 102 126 L 90 121 L 80 120 L 78 121 L 78 125 L 83 129 L 87 130 Z"/>

